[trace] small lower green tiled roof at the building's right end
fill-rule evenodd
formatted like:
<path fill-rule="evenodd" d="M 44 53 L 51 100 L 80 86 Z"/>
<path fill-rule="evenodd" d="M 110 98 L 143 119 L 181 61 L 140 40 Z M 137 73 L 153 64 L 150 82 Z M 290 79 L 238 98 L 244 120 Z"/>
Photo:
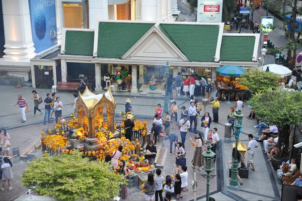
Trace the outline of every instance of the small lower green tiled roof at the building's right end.
<path fill-rule="evenodd" d="M 254 36 L 222 36 L 220 60 L 252 61 L 254 45 Z"/>

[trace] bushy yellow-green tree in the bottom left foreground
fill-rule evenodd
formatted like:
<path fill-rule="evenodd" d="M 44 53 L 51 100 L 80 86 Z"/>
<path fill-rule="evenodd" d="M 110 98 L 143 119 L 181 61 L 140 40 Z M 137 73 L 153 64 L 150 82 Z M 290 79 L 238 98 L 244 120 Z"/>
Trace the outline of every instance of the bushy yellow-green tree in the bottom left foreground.
<path fill-rule="evenodd" d="M 39 195 L 61 200 L 109 200 L 118 195 L 122 175 L 101 161 L 89 162 L 82 153 L 43 157 L 33 160 L 24 170 L 21 181 Z"/>

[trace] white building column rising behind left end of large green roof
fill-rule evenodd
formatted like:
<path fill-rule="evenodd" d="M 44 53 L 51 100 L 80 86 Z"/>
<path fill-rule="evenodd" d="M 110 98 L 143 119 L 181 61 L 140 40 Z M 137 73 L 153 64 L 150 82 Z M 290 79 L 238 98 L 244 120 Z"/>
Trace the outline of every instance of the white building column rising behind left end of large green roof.
<path fill-rule="evenodd" d="M 108 1 L 89 0 L 89 28 L 95 28 L 97 20 L 108 20 Z"/>

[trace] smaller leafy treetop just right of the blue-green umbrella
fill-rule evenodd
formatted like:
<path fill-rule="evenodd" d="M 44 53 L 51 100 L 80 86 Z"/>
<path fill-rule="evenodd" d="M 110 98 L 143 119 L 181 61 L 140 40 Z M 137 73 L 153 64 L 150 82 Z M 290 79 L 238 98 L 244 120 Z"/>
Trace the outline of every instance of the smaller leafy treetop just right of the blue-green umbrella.
<path fill-rule="evenodd" d="M 251 69 L 242 74 L 238 82 L 248 87 L 252 92 L 258 93 L 268 88 L 276 89 L 280 77 L 273 72 L 264 72 L 258 69 Z"/>

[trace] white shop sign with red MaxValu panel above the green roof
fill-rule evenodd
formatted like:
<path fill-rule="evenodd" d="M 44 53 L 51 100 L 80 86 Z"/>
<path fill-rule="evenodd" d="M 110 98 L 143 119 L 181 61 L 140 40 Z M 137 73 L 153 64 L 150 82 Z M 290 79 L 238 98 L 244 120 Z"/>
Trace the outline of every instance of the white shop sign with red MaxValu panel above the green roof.
<path fill-rule="evenodd" d="M 222 0 L 198 0 L 197 22 L 221 22 Z"/>

